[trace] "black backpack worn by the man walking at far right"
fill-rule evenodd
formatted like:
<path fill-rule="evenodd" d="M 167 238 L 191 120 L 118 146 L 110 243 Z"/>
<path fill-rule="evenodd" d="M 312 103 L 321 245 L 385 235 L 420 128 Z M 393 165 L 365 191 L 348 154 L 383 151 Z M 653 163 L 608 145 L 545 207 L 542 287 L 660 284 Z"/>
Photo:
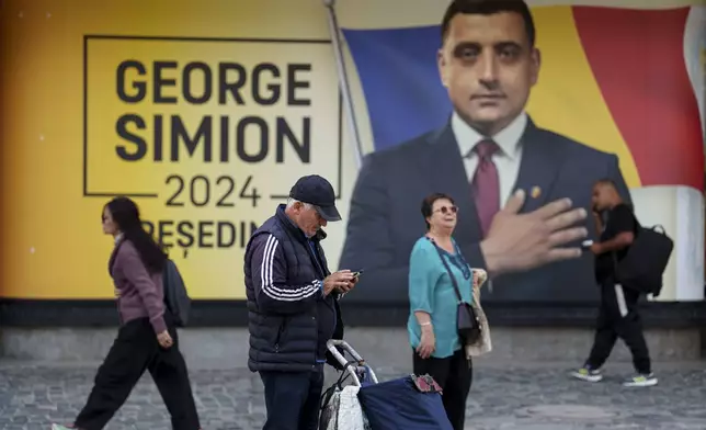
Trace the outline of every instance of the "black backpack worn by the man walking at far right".
<path fill-rule="evenodd" d="M 635 220 L 637 223 L 637 219 Z M 615 265 L 615 276 L 623 285 L 659 297 L 662 274 L 674 249 L 674 241 L 661 225 L 642 227 L 637 223 L 633 245 Z M 615 253 L 613 253 L 615 258 Z"/>

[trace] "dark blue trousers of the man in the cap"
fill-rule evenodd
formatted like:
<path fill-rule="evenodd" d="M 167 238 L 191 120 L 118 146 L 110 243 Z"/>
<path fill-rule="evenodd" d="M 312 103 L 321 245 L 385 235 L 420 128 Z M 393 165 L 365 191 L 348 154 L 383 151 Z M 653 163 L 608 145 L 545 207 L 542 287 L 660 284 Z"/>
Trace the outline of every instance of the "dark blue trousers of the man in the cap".
<path fill-rule="evenodd" d="M 263 430 L 317 430 L 323 365 L 311 372 L 260 372 L 267 420 Z"/>

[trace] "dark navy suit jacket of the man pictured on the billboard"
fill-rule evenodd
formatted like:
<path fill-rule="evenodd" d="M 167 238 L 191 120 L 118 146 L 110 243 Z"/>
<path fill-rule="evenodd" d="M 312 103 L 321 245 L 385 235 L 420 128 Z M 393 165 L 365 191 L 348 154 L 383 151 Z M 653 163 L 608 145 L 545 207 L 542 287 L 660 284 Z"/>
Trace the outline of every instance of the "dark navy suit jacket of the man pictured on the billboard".
<path fill-rule="evenodd" d="M 513 190 L 523 189 L 527 200 L 522 212 L 532 212 L 560 197 L 589 211 L 587 227 L 596 240 L 591 192 L 599 179 L 615 181 L 623 197 L 629 193 L 615 155 L 606 154 L 532 121 L 522 137 L 523 152 Z M 533 197 L 532 189 L 540 193 Z M 409 257 L 424 233 L 422 200 L 443 192 L 458 205 L 454 233 L 471 267 L 485 268 L 479 242 L 481 231 L 462 155 L 451 123 L 397 147 L 365 157 L 353 190 L 348 235 L 340 267 L 365 270 L 346 298 L 368 303 L 399 303 L 408 298 Z M 597 297 L 593 257 L 553 263 L 524 273 L 492 280 L 483 301 L 577 302 Z"/>

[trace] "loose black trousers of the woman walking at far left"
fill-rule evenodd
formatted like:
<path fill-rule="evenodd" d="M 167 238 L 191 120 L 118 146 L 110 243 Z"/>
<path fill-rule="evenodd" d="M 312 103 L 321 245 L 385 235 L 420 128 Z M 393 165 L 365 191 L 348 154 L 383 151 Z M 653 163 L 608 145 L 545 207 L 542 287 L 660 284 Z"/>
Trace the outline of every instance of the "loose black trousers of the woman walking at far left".
<path fill-rule="evenodd" d="M 176 330 L 166 315 L 173 344 L 163 349 L 147 318 L 122 326 L 105 361 L 95 375 L 95 384 L 83 410 L 75 421 L 79 429 L 100 430 L 123 406 L 145 371 L 157 384 L 174 430 L 201 428 L 191 392 L 186 363 L 179 351 Z"/>

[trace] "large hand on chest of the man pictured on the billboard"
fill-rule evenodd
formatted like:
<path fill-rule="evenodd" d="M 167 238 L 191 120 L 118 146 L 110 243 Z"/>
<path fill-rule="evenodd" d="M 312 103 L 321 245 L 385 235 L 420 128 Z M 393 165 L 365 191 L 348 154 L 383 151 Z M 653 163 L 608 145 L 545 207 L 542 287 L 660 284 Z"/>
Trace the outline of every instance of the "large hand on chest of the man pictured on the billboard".
<path fill-rule="evenodd" d="M 581 249 L 562 248 L 587 237 L 583 208 L 571 210 L 569 199 L 548 203 L 528 214 L 519 214 L 525 192 L 517 191 L 496 214 L 488 237 L 480 244 L 492 274 L 534 269 L 550 262 L 579 258 Z"/>

